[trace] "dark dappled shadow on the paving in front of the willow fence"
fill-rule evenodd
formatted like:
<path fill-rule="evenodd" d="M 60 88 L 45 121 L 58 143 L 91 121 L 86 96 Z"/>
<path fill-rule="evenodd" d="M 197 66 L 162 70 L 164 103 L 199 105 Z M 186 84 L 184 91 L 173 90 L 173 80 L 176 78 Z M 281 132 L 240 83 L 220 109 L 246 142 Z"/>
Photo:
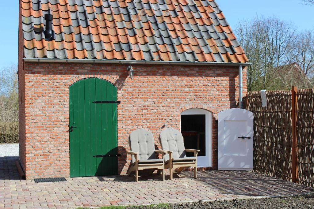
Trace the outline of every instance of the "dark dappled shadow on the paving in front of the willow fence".
<path fill-rule="evenodd" d="M 182 172 L 180 177 L 191 178 L 192 172 Z M 213 191 L 229 195 L 286 196 L 314 192 L 314 189 L 304 185 L 250 171 L 200 171 L 196 181 L 202 182 Z"/>

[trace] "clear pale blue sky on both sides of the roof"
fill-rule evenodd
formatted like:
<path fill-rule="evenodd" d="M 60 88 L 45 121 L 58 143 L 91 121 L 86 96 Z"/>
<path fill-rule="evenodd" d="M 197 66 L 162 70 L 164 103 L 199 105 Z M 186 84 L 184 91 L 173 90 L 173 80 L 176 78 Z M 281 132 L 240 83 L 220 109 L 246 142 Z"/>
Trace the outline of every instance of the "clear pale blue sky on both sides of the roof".
<path fill-rule="evenodd" d="M 231 28 L 239 20 L 257 15 L 277 16 L 292 21 L 300 30 L 314 28 L 314 6 L 301 4 L 301 0 L 216 0 L 224 12 Z M 0 69 L 12 63 L 17 64 L 19 1 L 6 1 L 0 7 Z"/>

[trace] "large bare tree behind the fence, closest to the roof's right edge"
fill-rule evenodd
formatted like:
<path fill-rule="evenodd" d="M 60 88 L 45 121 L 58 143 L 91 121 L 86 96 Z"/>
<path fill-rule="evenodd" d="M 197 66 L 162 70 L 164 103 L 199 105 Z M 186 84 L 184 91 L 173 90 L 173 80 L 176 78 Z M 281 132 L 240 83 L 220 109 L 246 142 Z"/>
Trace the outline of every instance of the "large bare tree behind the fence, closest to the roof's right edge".
<path fill-rule="evenodd" d="M 287 63 L 286 54 L 295 37 L 290 22 L 275 17 L 257 17 L 237 26 L 237 36 L 252 66 L 247 69 L 248 90 L 276 89 L 278 67 Z"/>

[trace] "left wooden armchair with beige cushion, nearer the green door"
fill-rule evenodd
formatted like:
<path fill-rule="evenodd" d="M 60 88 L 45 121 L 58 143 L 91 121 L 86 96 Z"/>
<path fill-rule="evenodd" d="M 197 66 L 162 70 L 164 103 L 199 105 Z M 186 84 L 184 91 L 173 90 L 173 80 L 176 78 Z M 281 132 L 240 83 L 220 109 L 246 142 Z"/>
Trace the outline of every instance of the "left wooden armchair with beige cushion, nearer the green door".
<path fill-rule="evenodd" d="M 128 175 L 135 171 L 135 180 L 138 182 L 138 170 L 152 169 L 162 171 L 162 180 L 165 180 L 165 160 L 164 156 L 167 152 L 155 150 L 154 136 L 146 129 L 137 129 L 129 136 L 129 144 L 131 151 L 127 154 L 132 155 L 132 164 L 129 168 Z M 156 158 L 156 153 L 160 153 L 162 158 Z M 160 172 L 159 172 L 160 173 Z"/>

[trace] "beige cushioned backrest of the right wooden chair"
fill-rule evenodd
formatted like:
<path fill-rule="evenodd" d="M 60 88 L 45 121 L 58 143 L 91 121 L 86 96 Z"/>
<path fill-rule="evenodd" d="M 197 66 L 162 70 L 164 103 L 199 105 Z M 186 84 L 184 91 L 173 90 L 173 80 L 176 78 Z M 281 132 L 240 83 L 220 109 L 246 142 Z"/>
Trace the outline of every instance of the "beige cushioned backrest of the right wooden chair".
<path fill-rule="evenodd" d="M 159 134 L 161 149 L 173 151 L 173 158 L 186 157 L 183 136 L 180 131 L 174 128 L 166 128 Z M 169 159 L 169 155 L 165 155 L 165 160 Z"/>

